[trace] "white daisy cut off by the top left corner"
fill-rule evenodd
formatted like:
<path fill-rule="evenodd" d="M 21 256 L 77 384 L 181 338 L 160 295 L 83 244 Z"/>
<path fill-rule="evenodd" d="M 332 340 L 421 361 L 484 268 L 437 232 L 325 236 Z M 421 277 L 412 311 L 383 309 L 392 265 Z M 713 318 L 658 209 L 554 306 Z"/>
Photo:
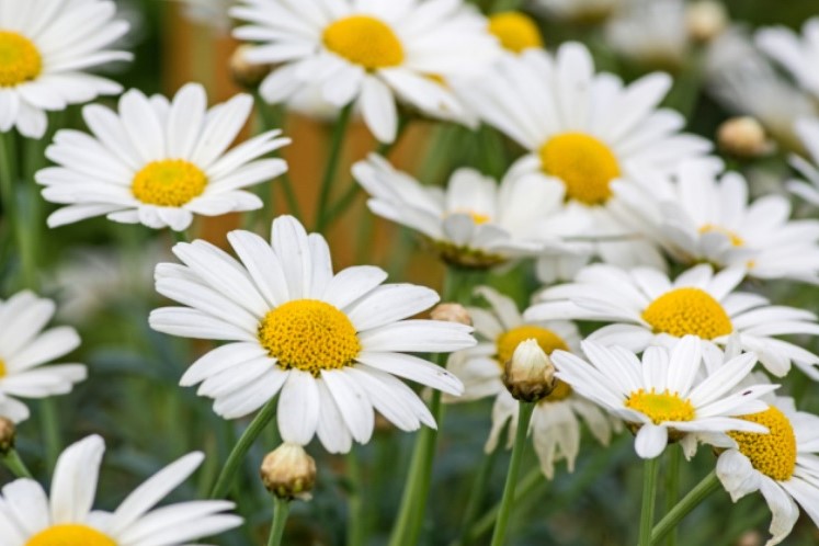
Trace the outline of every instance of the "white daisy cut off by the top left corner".
<path fill-rule="evenodd" d="M 0 0 L 0 132 L 41 138 L 46 112 L 117 94 L 122 87 L 87 73 L 126 52 L 105 49 L 128 31 L 110 0 Z"/>

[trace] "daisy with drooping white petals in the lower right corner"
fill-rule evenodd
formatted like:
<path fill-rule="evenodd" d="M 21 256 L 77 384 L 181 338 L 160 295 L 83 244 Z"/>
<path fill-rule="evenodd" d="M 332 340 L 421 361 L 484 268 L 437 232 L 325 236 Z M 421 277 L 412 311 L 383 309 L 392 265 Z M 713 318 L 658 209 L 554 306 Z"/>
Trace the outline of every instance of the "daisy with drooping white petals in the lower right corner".
<path fill-rule="evenodd" d="M 773 397 L 772 397 L 773 398 Z M 771 407 L 743 416 L 767 434 L 732 432 L 732 447 L 717 460 L 717 476 L 736 502 L 760 491 L 773 519 L 765 546 L 790 534 L 799 508 L 819 526 L 819 417 L 796 411 L 792 398 L 775 397 Z"/>

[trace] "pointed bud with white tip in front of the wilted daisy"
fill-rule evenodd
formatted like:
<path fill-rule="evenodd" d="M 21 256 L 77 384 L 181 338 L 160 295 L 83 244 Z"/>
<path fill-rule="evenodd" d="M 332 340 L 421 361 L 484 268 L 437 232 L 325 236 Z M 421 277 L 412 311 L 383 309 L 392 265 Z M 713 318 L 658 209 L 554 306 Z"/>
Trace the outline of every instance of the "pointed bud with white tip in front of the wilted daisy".
<path fill-rule="evenodd" d="M 536 402 L 555 388 L 555 366 L 537 341 L 521 342 L 503 368 L 503 385 L 516 400 Z"/>

